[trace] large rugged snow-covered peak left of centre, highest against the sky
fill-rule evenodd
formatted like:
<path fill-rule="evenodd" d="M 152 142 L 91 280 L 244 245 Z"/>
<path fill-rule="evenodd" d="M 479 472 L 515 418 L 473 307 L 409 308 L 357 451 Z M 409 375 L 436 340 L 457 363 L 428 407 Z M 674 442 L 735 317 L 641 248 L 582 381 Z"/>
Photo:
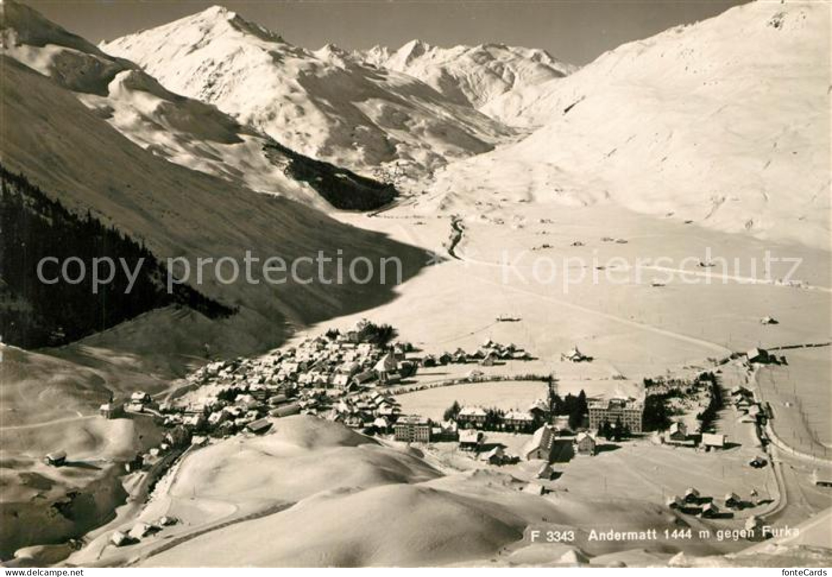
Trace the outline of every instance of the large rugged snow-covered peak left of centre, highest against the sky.
<path fill-rule="evenodd" d="M 211 8 L 102 48 L 294 150 L 359 170 L 399 161 L 433 170 L 512 133 L 411 76 L 379 72 L 334 45 L 294 47 L 229 16 Z"/>

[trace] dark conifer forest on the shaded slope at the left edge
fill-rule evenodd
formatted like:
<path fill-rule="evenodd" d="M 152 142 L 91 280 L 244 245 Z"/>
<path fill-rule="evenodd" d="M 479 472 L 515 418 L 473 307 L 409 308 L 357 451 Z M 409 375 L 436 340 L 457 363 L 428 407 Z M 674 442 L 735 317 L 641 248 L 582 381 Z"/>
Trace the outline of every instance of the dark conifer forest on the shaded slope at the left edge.
<path fill-rule="evenodd" d="M 64 280 L 43 283 L 37 276 L 37 264 L 45 257 L 54 257 L 57 263 L 44 265 L 44 278 L 58 278 L 61 264 L 71 257 L 81 259 L 86 278 L 77 284 Z M 104 257 L 116 263 L 116 274 L 94 293 L 93 259 Z M 126 289 L 130 280 L 119 259 L 131 271 L 144 259 L 129 293 Z M 76 260 L 68 267 L 68 276 L 77 279 L 80 269 Z M 185 284 L 175 284 L 173 293 L 168 294 L 164 265 L 141 241 L 131 239 L 89 212 L 72 213 L 23 175 L 13 174 L 0 165 L 3 343 L 22 348 L 58 346 L 170 304 L 193 308 L 210 318 L 234 313 Z"/>

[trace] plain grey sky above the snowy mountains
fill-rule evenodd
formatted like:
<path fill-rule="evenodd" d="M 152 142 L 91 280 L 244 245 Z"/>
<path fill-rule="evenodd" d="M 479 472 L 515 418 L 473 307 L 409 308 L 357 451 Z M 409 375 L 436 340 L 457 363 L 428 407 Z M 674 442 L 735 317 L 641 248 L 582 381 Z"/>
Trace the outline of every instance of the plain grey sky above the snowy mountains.
<path fill-rule="evenodd" d="M 92 42 L 170 22 L 220 3 L 288 42 L 347 49 L 505 42 L 575 64 L 666 28 L 716 16 L 736 0 L 24 0 Z"/>

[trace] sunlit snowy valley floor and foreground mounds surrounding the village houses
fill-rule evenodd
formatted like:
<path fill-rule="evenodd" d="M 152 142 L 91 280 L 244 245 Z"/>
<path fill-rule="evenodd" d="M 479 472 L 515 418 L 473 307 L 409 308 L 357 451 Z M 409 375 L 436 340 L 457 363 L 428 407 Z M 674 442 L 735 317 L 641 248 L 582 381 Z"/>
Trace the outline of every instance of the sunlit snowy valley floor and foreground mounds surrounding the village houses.
<path fill-rule="evenodd" d="M 423 216 L 407 205 L 372 217 L 340 215 L 349 224 L 384 232 L 442 258 L 398 287 L 399 296 L 391 303 L 311 327 L 293 340 L 332 326 L 346 328 L 364 317 L 394 325 L 401 338 L 426 353 L 476 348 L 493 338 L 517 343 L 536 360 L 522 367 L 512 363 L 488 367 L 488 372 L 554 371 L 560 377 L 561 392 L 583 389 L 590 396 L 632 392 L 643 377 L 696 372 L 711 367 L 708 359 L 725 358 L 732 351 L 828 342 L 830 273 L 828 259 L 820 251 L 769 246 L 692 224 L 606 208 L 518 206 L 503 210 L 500 219 L 478 213 L 461 217 L 463 237 L 455 251 L 460 258 L 454 259 L 442 246 L 451 234 L 448 215 Z M 603 241 L 604 237 L 626 243 Z M 576 241 L 582 245 L 572 246 Z M 544 244 L 550 248 L 539 248 Z M 500 265 L 505 248 L 510 249 L 510 262 L 517 263 L 506 282 Z M 796 276 L 805 286 L 738 283 L 736 279 L 762 278 L 750 263 L 755 258 L 761 262 L 766 249 L 800 256 L 803 262 Z M 603 266 L 592 264 L 593 258 L 599 263 L 613 257 L 635 263 L 637 258 L 659 256 L 677 263 L 688 256 L 740 261 L 736 270 L 724 274 L 691 262 L 663 269 L 645 264 L 641 284 L 583 282 L 564 291 L 561 279 L 554 284 L 522 279 L 522 273 L 532 267 L 530 259 L 539 254 L 557 257 L 556 262 L 571 257 L 576 267 L 582 257 L 592 269 Z M 429 258 L 435 256 L 426 253 L 425 259 Z M 617 266 L 626 268 L 621 263 Z M 702 282 L 683 284 L 678 276 L 666 279 L 665 269 L 676 268 Z M 714 275 L 710 284 L 705 282 L 708 274 Z M 660 275 L 662 282 L 654 283 Z M 779 324 L 761 324 L 760 318 L 766 315 Z M 500 316 L 520 320 L 498 322 Z M 560 354 L 573 346 L 594 360 L 560 361 Z M 807 401 L 795 406 L 772 399 L 775 429 L 782 422 L 782 427 L 795 431 L 794 438 L 786 439 L 795 449 L 823 453 L 832 442 L 824 408 L 830 404 L 829 360 L 809 349 L 782 354 L 789 365 L 765 369 L 758 381 L 767 387 L 766 378 L 774 382 L 782 378 L 797 397 Z M 780 376 L 785 370 L 790 379 L 799 377 L 799 387 Z M 418 378 L 430 382 L 443 376 L 426 370 Z M 743 384 L 745 377 L 726 368 L 723 378 L 730 387 Z M 461 402 L 490 402 L 493 394 L 484 387 L 512 384 L 466 385 L 472 387 L 470 397 L 448 392 L 448 388 L 435 389 L 448 397 L 428 400 L 427 406 L 417 401 L 423 394 L 419 392 L 400 400 L 404 407 L 416 402 L 415 407 L 430 413 L 451 397 Z M 513 406 L 522 403 L 524 395 L 536 397 L 536 392 L 503 402 Z M 597 564 L 651 565 L 665 564 L 679 551 L 700 556 L 733 554 L 749 543 L 715 539 L 598 543 L 587 540 L 587 535 L 592 528 L 606 527 L 673 530 L 679 526 L 676 516 L 663 501 L 687 486 L 697 486 L 720 499 L 728 491 L 747 495 L 756 490 L 770 501 L 733 520 L 686 517 L 691 526 L 715 534 L 720 529 L 740 528 L 752 513 L 768 514 L 767 520 L 793 527 L 832 506 L 829 490 L 810 481 L 812 471 L 827 471 L 828 466 L 775 448 L 779 461 L 775 469 L 751 470 L 747 461 L 759 449 L 750 426 L 735 421 L 732 410 L 721 413 L 717 427 L 739 444 L 723 454 L 634 441 L 593 458 L 573 459 L 562 466 L 562 475 L 552 481 L 549 495 L 533 496 L 518 491 L 529 481 L 528 466 L 495 469 L 468 460 L 468 470 L 459 471 L 458 459 L 441 451 L 378 445 L 313 417 L 292 417 L 277 422 L 274 435 L 232 438 L 186 456 L 157 487 L 150 505 L 136 511 L 145 520 L 176 515 L 183 525 L 140 545 L 119 550 L 106 545 L 109 530 L 129 527 L 128 521 L 135 518 L 130 515 L 107 525 L 107 530 L 95 531 L 90 544 L 67 562 L 222 565 L 231 550 L 244 565 L 548 564 L 580 560 L 584 554 Z M 800 427 L 805 427 L 805 435 L 796 433 L 801 431 L 796 423 L 804 423 Z M 299 526 L 305 530 L 297 530 Z M 359 526 L 364 528 L 359 530 Z M 579 536 L 569 545 L 532 544 L 527 535 L 530 527 L 572 528 Z M 253 535 L 274 538 L 269 537 L 265 546 Z M 574 547 L 580 551 L 570 553 Z M 778 563 L 777 555 L 807 560 L 815 555 L 777 547 L 766 552 L 773 555 L 773 564 Z M 828 554 L 820 555 L 828 559 L 824 557 Z M 787 563 L 785 556 L 780 558 Z M 721 562 L 748 562 L 741 559 Z"/>

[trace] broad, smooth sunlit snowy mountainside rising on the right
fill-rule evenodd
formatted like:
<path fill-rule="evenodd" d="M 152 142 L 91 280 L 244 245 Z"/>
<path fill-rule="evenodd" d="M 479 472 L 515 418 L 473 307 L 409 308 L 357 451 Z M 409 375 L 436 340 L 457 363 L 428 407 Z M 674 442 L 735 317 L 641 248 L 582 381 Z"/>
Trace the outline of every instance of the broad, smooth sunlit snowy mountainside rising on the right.
<path fill-rule="evenodd" d="M 830 4 L 751 2 L 489 102 L 541 127 L 449 167 L 433 198 L 612 202 L 828 250 L 830 85 Z"/>

